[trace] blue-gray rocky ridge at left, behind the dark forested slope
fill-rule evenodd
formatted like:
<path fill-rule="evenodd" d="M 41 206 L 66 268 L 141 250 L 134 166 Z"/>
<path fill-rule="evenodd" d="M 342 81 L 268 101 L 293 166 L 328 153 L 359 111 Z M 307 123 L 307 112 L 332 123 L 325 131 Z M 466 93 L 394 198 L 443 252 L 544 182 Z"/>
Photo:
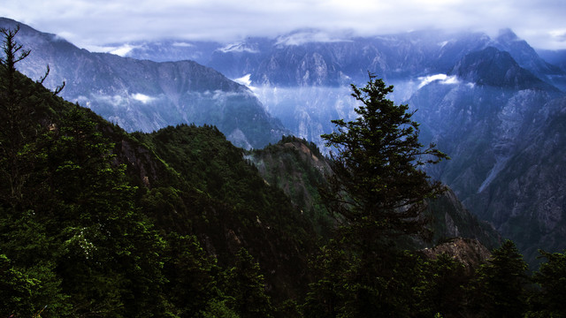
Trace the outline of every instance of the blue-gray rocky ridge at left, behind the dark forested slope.
<path fill-rule="evenodd" d="M 0 19 L 0 27 L 15 21 Z M 216 125 L 237 146 L 262 148 L 288 133 L 255 95 L 221 73 L 193 61 L 157 63 L 78 49 L 53 34 L 22 26 L 17 41 L 32 53 L 19 71 L 79 102 L 126 131 L 152 132 L 181 123 Z"/>

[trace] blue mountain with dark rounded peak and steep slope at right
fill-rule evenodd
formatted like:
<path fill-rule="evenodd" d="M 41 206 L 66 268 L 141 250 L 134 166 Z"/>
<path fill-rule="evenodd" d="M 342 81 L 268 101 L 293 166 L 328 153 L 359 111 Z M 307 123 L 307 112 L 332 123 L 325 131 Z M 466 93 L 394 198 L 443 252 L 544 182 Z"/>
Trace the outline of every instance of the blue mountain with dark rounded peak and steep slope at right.
<path fill-rule="evenodd" d="M 564 206 L 555 193 L 566 151 L 557 124 L 563 93 L 495 48 L 470 53 L 449 74 L 458 80 L 430 83 L 409 99 L 424 141 L 452 157 L 429 172 L 529 261 L 537 248 L 562 249 Z"/>

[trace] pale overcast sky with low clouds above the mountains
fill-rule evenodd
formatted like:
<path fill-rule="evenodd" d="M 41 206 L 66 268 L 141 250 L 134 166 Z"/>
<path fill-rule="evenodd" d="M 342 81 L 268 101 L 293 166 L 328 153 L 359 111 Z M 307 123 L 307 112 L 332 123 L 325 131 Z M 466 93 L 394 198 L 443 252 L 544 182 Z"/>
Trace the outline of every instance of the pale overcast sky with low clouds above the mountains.
<path fill-rule="evenodd" d="M 566 0 L 2 0 L 0 16 L 94 49 L 163 37 L 230 42 L 298 28 L 357 35 L 424 28 L 496 34 L 566 49 Z"/>

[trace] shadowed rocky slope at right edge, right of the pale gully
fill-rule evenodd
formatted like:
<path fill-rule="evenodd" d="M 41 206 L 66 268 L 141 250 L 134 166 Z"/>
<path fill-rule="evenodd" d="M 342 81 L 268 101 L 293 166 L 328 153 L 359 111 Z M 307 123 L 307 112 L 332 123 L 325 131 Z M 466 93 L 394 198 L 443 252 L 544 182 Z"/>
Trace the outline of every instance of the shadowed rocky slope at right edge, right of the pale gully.
<path fill-rule="evenodd" d="M 541 109 L 557 111 L 533 120 L 532 129 L 521 136 L 524 146 L 469 202 L 531 260 L 538 248 L 561 251 L 566 237 L 566 99 L 547 102 Z"/>

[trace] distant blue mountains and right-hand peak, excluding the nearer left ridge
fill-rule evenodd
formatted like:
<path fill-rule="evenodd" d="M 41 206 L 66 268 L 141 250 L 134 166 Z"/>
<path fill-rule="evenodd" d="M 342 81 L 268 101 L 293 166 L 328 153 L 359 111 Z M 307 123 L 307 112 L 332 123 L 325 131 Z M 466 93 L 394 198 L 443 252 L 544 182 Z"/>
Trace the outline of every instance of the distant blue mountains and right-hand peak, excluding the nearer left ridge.
<path fill-rule="evenodd" d="M 550 64 L 509 29 L 494 38 L 440 31 L 330 38 L 302 30 L 213 48 L 136 43 L 126 55 L 195 57 L 248 85 L 273 116 L 323 152 L 319 136 L 333 130 L 330 120 L 356 116 L 349 84 L 361 86 L 374 73 L 394 84 L 395 102 L 416 110 L 424 144 L 452 157 L 428 170 L 433 178 L 514 239 L 527 259 L 538 248 L 565 247 L 561 52 L 541 51 Z"/>

